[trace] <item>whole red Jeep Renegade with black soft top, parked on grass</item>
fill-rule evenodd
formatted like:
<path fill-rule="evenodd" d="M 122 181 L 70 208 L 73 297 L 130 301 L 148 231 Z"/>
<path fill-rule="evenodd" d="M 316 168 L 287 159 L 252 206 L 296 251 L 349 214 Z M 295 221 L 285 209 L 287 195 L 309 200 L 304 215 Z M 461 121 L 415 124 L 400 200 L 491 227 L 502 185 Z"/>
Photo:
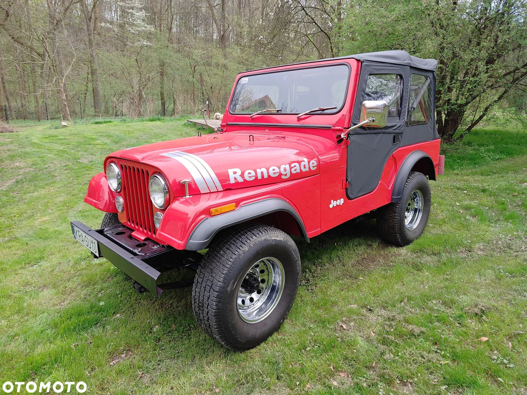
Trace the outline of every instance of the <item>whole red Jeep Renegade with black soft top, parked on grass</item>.
<path fill-rule="evenodd" d="M 161 278 L 193 269 L 201 327 L 255 347 L 298 290 L 289 234 L 309 242 L 374 210 L 392 244 L 423 233 L 442 172 L 436 65 L 386 51 L 240 73 L 215 133 L 106 157 L 84 199 L 106 213 L 101 229 L 74 221 L 73 235 L 140 292 L 190 285 Z"/>

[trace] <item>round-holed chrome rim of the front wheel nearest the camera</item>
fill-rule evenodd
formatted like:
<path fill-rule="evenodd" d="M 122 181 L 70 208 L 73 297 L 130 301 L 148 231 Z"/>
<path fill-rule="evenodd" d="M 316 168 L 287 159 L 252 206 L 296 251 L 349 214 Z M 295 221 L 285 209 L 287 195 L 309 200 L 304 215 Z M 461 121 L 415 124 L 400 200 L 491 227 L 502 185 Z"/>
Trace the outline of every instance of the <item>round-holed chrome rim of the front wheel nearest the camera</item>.
<path fill-rule="evenodd" d="M 264 258 L 251 265 L 238 288 L 238 313 L 249 323 L 266 319 L 276 308 L 284 291 L 284 266 L 276 258 Z"/>

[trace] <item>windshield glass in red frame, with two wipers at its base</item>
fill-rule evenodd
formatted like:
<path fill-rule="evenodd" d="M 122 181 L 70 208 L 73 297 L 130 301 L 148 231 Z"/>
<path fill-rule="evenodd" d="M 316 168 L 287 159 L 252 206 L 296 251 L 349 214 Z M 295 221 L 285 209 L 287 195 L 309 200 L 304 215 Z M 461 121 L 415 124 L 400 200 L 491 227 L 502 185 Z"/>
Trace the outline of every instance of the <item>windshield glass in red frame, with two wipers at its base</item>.
<path fill-rule="evenodd" d="M 299 114 L 317 107 L 337 107 L 313 114 L 335 114 L 346 98 L 346 65 L 302 68 L 242 77 L 236 84 L 229 111 L 253 114 L 280 108 L 276 114 Z"/>

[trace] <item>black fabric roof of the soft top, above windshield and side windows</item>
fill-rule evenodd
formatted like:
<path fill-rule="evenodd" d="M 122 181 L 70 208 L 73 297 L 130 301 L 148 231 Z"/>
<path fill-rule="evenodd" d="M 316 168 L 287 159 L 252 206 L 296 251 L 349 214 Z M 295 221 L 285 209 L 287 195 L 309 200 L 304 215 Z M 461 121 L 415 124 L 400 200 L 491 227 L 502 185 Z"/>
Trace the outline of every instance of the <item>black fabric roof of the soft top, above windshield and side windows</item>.
<path fill-rule="evenodd" d="M 431 71 L 435 71 L 437 67 L 437 61 L 435 59 L 422 59 L 420 57 L 412 56 L 406 51 L 368 52 L 365 54 L 330 57 L 326 59 L 320 59 L 318 61 L 308 61 L 308 62 L 291 63 L 291 64 L 315 63 L 315 62 L 322 62 L 322 61 L 330 61 L 334 59 L 349 59 L 349 58 L 357 59 L 359 61 L 373 61 L 373 62 L 382 62 L 382 63 L 389 63 L 389 64 L 401 64 L 404 66 L 422 68 L 423 70 L 431 70 Z M 289 66 L 289 65 L 282 65 L 282 66 Z M 281 66 L 271 66 L 271 67 L 260 68 L 257 70 L 265 70 L 266 68 L 275 68 L 275 67 L 281 67 Z M 250 70 L 250 71 L 257 71 L 257 70 Z M 247 72 L 243 72 L 243 73 L 247 73 Z"/>

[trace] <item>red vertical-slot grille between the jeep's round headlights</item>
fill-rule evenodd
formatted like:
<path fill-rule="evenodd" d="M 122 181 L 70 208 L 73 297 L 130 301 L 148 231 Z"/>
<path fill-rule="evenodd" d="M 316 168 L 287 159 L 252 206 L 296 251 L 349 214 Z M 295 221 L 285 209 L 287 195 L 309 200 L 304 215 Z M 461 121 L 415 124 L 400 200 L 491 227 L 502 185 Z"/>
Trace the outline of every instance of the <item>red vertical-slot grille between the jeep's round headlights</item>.
<path fill-rule="evenodd" d="M 139 163 L 121 163 L 123 198 L 130 228 L 155 234 L 154 213 L 148 194 L 149 172 Z"/>

